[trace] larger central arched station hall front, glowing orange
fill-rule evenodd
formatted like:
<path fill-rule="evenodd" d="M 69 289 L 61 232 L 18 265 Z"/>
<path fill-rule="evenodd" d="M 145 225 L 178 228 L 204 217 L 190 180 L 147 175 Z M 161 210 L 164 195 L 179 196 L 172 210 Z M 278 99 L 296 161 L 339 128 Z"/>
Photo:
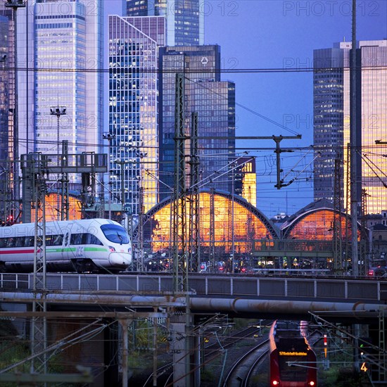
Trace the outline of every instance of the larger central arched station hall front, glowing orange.
<path fill-rule="evenodd" d="M 189 217 L 189 198 L 186 203 L 187 217 Z M 241 196 L 231 196 L 223 191 L 205 190 L 199 193 L 198 203 L 200 208 L 198 229 L 204 250 L 212 241 L 213 246 L 223 253 L 230 253 L 231 243 L 234 243 L 236 253 L 246 253 L 251 251 L 254 239 L 279 237 L 267 217 Z M 151 243 L 153 251 L 170 247 L 171 204 L 172 198 L 167 198 L 145 215 L 144 241 Z M 186 235 L 189 238 L 189 229 L 186 230 Z"/>

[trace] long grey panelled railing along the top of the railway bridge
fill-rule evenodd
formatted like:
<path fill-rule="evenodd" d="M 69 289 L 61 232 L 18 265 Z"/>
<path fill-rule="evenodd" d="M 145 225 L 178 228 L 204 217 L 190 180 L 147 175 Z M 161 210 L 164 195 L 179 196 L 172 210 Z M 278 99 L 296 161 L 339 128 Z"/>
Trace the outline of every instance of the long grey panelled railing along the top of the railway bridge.
<path fill-rule="evenodd" d="M 31 293 L 33 274 L 0 274 L 3 295 Z M 263 300 L 315 300 L 328 303 L 351 301 L 379 303 L 387 298 L 387 281 L 375 279 L 286 278 L 261 276 L 207 276 L 189 278 L 192 297 Z M 113 296 L 166 296 L 173 291 L 170 275 L 47 274 L 47 296 L 56 294 Z M 16 296 L 17 297 L 17 296 Z"/>

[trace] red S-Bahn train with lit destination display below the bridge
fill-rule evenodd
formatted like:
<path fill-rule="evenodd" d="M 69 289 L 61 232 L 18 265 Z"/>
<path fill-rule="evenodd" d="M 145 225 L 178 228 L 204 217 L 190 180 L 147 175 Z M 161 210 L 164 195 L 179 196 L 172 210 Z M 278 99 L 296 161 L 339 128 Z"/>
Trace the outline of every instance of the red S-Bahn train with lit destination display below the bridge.
<path fill-rule="evenodd" d="M 269 385 L 316 387 L 316 355 L 306 338 L 307 323 L 279 322 L 269 333 Z"/>

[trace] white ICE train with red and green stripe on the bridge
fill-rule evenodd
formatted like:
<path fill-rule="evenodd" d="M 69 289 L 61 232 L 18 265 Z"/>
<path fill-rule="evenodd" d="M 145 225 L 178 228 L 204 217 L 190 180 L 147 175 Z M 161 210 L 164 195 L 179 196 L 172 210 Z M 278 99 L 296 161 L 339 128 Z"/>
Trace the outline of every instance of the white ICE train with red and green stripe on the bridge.
<path fill-rule="evenodd" d="M 35 224 L 0 227 L 0 272 L 34 267 Z M 106 219 L 46 222 L 46 270 L 119 272 L 132 262 L 132 243 L 124 227 Z"/>

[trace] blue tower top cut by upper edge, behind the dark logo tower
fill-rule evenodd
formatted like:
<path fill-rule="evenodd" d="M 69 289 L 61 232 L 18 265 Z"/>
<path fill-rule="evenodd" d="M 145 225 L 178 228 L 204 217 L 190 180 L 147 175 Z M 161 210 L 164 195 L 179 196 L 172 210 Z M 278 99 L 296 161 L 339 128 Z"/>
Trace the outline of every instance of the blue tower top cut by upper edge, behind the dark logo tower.
<path fill-rule="evenodd" d="M 204 0 L 127 0 L 127 16 L 165 16 L 167 46 L 204 44 Z"/>

